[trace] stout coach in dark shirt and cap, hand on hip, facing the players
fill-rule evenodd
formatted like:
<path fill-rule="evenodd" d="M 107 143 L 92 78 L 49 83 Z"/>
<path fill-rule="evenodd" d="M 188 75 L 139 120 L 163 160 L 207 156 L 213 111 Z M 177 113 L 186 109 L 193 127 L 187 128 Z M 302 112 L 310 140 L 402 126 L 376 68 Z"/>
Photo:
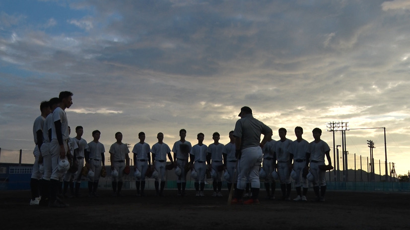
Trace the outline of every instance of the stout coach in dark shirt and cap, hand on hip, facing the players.
<path fill-rule="evenodd" d="M 235 198 L 232 204 L 242 201 L 242 194 L 246 187 L 246 180 L 249 176 L 251 181 L 252 198 L 245 201 L 244 204 L 259 204 L 259 168 L 262 163 L 262 148 L 265 143 L 272 138 L 272 129 L 263 122 L 255 119 L 252 115 L 251 108 L 245 106 L 241 108 L 239 115 L 241 119 L 236 121 L 233 135 L 235 136 L 235 153 L 238 156 L 238 189 L 235 190 Z M 261 134 L 264 139 L 261 141 Z"/>

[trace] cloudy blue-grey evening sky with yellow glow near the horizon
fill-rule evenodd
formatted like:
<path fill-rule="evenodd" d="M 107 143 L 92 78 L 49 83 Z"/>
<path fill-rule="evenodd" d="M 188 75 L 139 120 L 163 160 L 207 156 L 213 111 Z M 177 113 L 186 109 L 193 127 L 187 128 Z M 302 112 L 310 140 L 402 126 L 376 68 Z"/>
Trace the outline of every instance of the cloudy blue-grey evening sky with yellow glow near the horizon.
<path fill-rule="evenodd" d="M 410 0 L 2 0 L 0 162 L 30 155 L 40 102 L 71 91 L 69 125 L 87 141 L 100 130 L 107 152 L 117 131 L 132 146 L 143 131 L 172 148 L 181 128 L 228 143 L 249 106 L 275 140 L 321 128 L 331 153 L 326 122 L 386 127 L 388 162 L 407 174 L 409 21 Z M 383 129 L 347 131 L 349 158 L 369 156 L 366 140 L 384 162 Z"/>

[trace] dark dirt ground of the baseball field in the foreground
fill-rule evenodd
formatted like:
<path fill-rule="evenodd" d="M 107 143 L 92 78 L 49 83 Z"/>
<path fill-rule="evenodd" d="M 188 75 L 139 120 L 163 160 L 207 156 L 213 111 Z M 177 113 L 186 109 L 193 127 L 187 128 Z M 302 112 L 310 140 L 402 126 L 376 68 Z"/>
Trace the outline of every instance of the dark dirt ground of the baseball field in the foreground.
<path fill-rule="evenodd" d="M 0 191 L 1 230 L 136 228 L 153 230 L 386 230 L 410 229 L 409 193 L 328 191 L 326 202 L 295 202 L 264 199 L 260 205 L 227 205 L 223 197 L 177 196 L 166 190 L 156 197 L 154 190 L 146 196 L 135 196 L 124 190 L 123 197 L 112 197 L 112 191 L 99 190 L 98 198 L 65 199 L 68 208 L 29 206 L 30 191 Z M 279 191 L 276 196 L 279 197 Z M 82 190 L 86 194 L 86 190 Z M 292 197 L 295 194 L 292 193 Z M 313 191 L 308 192 L 313 200 Z"/>

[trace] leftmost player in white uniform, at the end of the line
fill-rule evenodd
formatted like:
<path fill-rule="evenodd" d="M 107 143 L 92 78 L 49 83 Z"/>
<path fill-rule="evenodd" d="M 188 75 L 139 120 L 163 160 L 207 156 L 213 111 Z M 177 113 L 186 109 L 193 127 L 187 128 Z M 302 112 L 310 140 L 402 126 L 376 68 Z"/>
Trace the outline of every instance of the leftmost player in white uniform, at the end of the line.
<path fill-rule="evenodd" d="M 51 113 L 49 102 L 43 101 L 40 103 L 40 112 L 39 115 L 33 124 L 33 136 L 34 136 L 34 143 L 36 146 L 34 147 L 34 165 L 33 170 L 31 173 L 30 179 L 30 187 L 31 187 L 31 200 L 30 205 L 39 205 L 40 203 L 40 179 L 42 174 L 39 170 L 39 164 L 43 162 L 43 157 L 41 156 L 41 145 L 43 144 L 43 127 L 44 127 L 44 120 L 46 119 L 47 115 Z"/>

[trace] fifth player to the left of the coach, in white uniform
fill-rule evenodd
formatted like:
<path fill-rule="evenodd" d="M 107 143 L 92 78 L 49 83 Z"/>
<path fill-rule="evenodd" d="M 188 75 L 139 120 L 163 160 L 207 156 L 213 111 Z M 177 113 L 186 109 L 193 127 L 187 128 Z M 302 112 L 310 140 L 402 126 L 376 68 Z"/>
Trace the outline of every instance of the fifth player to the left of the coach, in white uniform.
<path fill-rule="evenodd" d="M 155 178 L 155 191 L 157 196 L 163 196 L 163 191 L 165 187 L 165 173 L 166 169 L 165 166 L 167 164 L 167 156 L 168 159 L 171 161 L 171 164 L 174 164 L 171 156 L 171 149 L 167 144 L 163 142 L 164 134 L 159 132 L 157 134 L 158 142 L 155 143 L 151 148 L 152 153 L 152 164 L 155 167 L 155 170 L 158 172 L 158 177 Z M 159 179 L 161 179 L 161 188 L 159 188 Z"/>

